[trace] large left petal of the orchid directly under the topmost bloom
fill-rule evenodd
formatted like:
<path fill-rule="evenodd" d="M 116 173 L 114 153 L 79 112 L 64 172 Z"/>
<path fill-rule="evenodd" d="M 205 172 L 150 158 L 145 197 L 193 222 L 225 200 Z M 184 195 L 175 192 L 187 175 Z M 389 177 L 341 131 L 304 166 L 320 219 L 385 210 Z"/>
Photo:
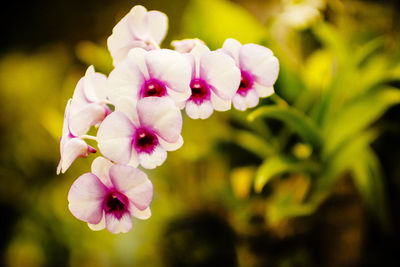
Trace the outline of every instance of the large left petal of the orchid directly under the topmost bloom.
<path fill-rule="evenodd" d="M 144 76 L 137 63 L 129 58 L 124 60 L 111 71 L 107 80 L 111 101 L 127 97 L 137 99 L 143 83 Z"/>

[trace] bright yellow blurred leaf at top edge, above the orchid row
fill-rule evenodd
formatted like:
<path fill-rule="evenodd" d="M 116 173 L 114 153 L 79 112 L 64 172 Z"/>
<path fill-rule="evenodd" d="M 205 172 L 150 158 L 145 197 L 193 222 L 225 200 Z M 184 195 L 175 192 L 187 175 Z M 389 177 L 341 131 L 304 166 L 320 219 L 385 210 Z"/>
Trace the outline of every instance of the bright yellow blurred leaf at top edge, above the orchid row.
<path fill-rule="evenodd" d="M 259 43 L 266 36 L 264 26 L 249 12 L 226 0 L 192 0 L 183 16 L 183 32 L 213 48 L 226 38 L 242 43 Z"/>

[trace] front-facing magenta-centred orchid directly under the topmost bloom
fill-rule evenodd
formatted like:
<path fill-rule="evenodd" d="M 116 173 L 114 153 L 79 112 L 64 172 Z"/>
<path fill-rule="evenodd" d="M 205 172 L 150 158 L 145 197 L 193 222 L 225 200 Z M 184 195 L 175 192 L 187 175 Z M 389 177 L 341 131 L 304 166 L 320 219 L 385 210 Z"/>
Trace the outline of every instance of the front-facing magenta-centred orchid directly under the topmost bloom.
<path fill-rule="evenodd" d="M 178 52 L 161 49 L 132 49 L 108 77 L 110 99 L 118 106 L 120 99 L 149 96 L 170 97 L 182 103 L 190 96 L 190 65 Z"/>

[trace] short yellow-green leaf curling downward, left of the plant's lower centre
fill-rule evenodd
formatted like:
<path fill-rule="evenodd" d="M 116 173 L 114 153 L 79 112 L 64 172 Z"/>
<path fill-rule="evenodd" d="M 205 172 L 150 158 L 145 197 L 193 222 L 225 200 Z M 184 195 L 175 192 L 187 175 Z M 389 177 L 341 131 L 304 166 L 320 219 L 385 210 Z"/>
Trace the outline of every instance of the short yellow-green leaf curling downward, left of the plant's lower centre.
<path fill-rule="evenodd" d="M 258 168 L 254 179 L 256 192 L 261 192 L 263 187 L 274 177 L 293 172 L 316 172 L 319 166 L 311 161 L 295 161 L 283 156 L 267 158 Z"/>

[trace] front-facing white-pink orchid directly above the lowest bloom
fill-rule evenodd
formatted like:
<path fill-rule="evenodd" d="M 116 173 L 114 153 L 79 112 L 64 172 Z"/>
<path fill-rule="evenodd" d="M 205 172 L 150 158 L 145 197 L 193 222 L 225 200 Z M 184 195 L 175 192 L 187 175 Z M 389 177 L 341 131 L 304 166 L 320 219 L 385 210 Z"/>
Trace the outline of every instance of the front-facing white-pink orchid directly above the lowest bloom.
<path fill-rule="evenodd" d="M 153 169 L 166 160 L 167 151 L 182 146 L 181 113 L 169 98 L 124 101 L 100 125 L 99 149 L 117 163 Z"/>

